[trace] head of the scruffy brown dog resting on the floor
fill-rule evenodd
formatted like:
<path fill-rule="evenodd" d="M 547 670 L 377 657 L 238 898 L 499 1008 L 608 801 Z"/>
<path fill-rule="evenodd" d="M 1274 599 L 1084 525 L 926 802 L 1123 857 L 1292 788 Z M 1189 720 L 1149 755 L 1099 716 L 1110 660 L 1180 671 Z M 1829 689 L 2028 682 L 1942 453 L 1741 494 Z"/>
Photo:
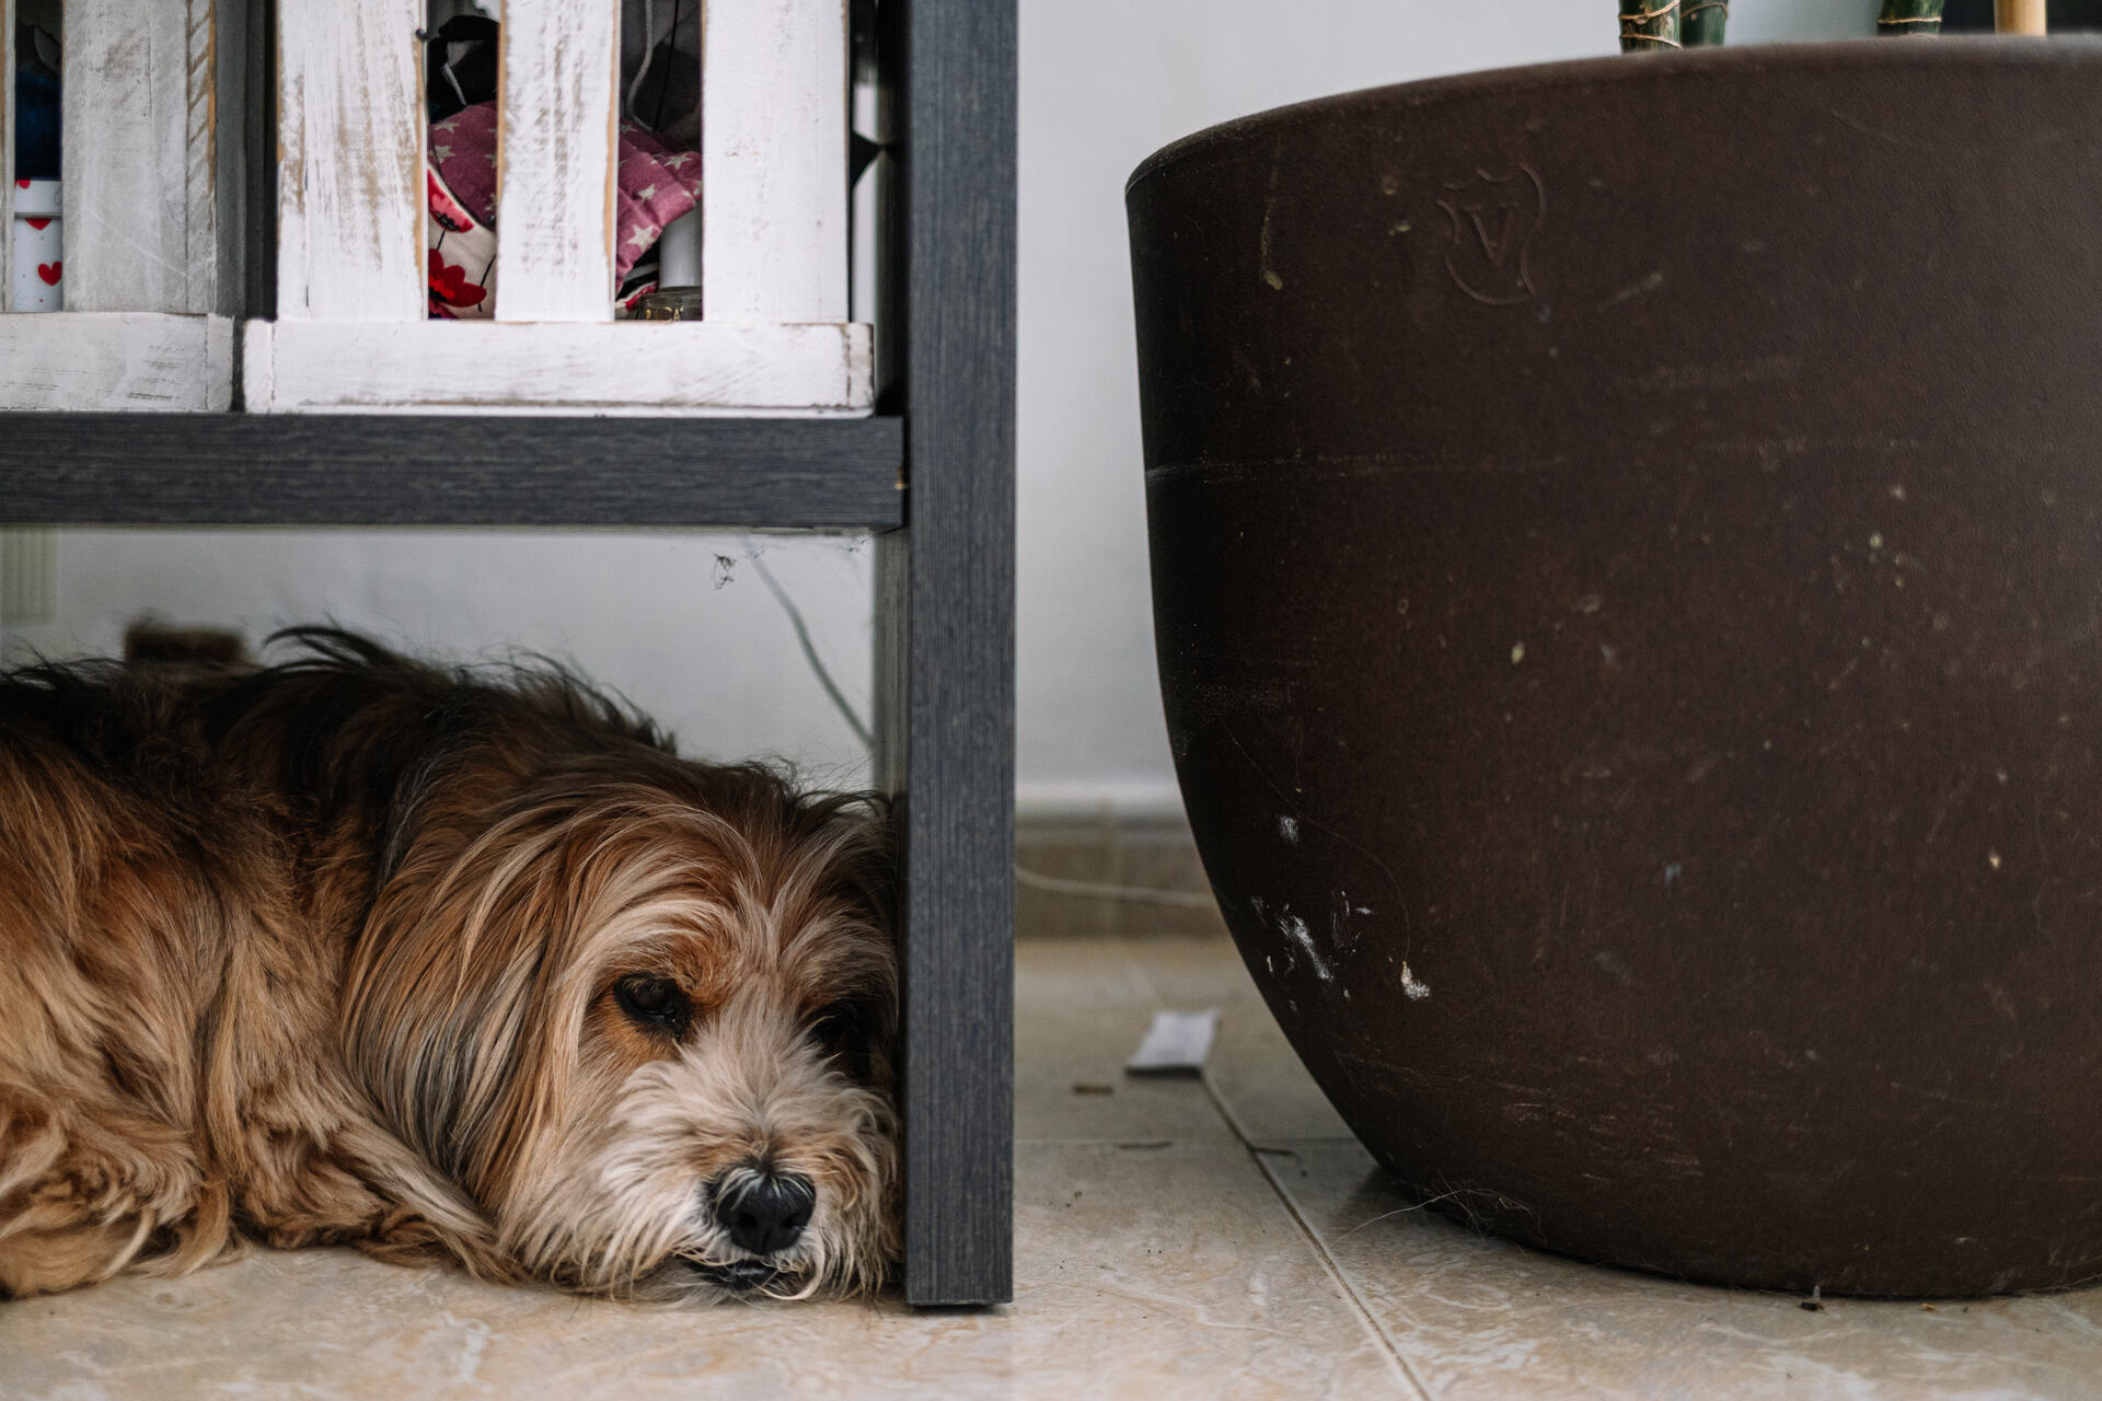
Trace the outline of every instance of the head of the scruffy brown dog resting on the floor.
<path fill-rule="evenodd" d="M 521 1273 L 874 1285 L 898 1254 L 881 813 L 643 744 L 528 748 L 448 756 L 399 802 L 353 1073 Z"/>

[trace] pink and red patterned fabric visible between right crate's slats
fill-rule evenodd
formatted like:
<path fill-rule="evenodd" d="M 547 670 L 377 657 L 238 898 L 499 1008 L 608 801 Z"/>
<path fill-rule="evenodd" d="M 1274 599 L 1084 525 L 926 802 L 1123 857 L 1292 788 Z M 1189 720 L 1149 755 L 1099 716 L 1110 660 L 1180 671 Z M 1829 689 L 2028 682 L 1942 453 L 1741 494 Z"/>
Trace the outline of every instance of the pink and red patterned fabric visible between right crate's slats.
<path fill-rule="evenodd" d="M 496 103 L 431 124 L 431 315 L 496 313 Z M 635 122 L 620 124 L 614 176 L 614 281 L 628 281 L 664 225 L 700 204 L 700 155 L 675 151 Z M 622 305 L 643 286 L 622 286 Z"/>

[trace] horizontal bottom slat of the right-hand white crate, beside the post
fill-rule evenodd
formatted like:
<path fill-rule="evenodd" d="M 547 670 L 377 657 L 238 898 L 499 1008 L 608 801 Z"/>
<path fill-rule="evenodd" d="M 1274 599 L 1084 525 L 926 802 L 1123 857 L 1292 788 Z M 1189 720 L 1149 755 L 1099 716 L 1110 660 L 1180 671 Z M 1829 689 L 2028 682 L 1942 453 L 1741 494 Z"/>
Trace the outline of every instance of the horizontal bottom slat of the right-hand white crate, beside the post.
<path fill-rule="evenodd" d="M 498 292 L 502 296 L 502 292 Z M 248 321 L 250 412 L 868 414 L 866 326 Z"/>

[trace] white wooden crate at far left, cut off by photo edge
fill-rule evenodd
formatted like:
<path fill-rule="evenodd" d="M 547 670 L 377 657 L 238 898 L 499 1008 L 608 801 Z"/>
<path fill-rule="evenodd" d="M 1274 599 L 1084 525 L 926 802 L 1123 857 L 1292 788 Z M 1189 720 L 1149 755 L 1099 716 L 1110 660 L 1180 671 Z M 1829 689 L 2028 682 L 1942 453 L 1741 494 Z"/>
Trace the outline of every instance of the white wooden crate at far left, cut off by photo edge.
<path fill-rule="evenodd" d="M 223 0 L 65 0 L 63 311 L 0 315 L 0 410 L 225 410 L 240 296 L 240 34 Z M 15 151 L 15 6 L 4 132 Z M 235 126 L 227 126 L 235 122 Z M 17 181 L 0 183 L 13 269 Z M 13 279 L 8 281 L 8 286 Z"/>

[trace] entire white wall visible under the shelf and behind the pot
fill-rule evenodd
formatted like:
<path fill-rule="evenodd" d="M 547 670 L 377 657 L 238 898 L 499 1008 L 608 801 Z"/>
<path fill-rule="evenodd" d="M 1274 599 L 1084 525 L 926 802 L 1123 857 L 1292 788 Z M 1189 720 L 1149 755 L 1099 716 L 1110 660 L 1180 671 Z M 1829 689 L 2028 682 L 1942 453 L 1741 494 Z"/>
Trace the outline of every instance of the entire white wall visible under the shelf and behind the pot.
<path fill-rule="evenodd" d="M 1867 34 L 1873 0 L 1738 0 L 1738 42 Z M 1608 0 L 1022 0 L 1024 809 L 1175 811 L 1154 685 L 1125 176 L 1192 130 L 1278 103 L 1602 55 Z M 868 550 L 769 540 L 816 645 L 868 706 Z M 719 586 L 717 557 L 731 561 Z M 141 611 L 250 639 L 334 618 L 410 647 L 568 655 L 706 754 L 774 752 L 858 781 L 738 538 L 67 531 L 59 613 L 6 655 L 109 651 Z"/>

